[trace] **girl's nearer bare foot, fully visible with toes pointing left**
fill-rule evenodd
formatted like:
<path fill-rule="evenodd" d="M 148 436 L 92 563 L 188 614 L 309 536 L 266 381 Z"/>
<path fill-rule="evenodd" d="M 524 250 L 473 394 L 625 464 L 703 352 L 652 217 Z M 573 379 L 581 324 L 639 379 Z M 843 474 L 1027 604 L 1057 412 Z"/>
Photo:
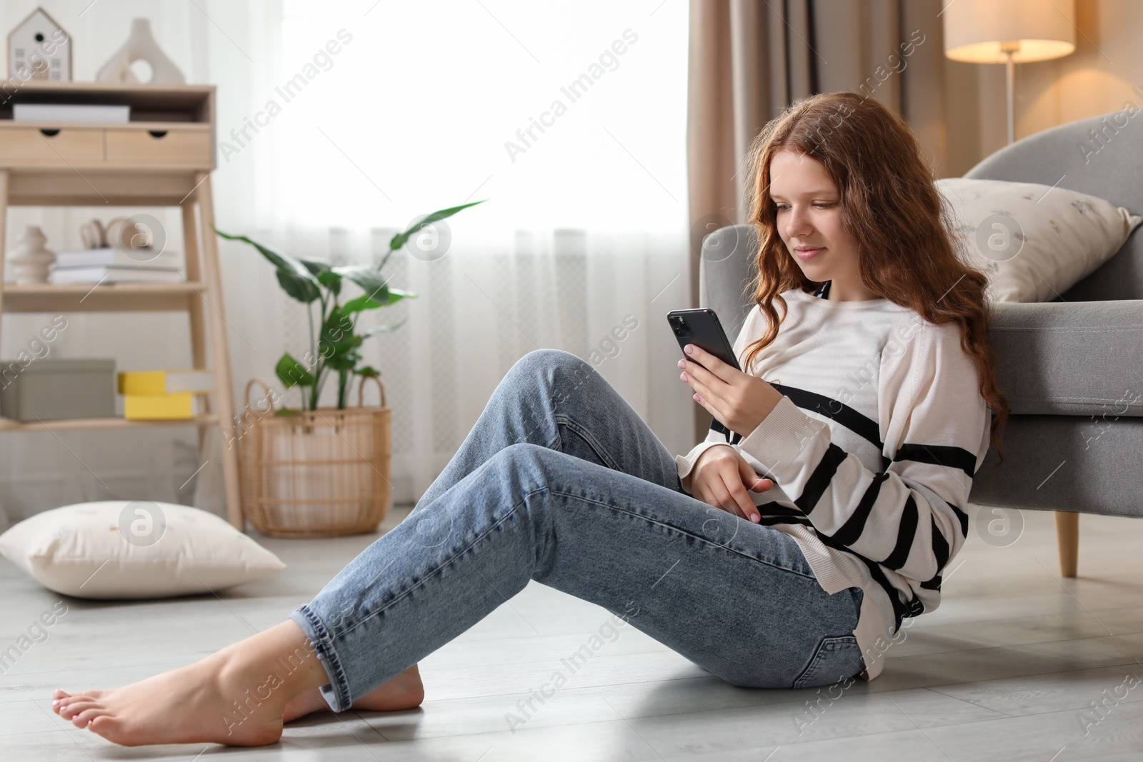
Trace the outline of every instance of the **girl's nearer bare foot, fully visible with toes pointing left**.
<path fill-rule="evenodd" d="M 114 690 L 56 690 L 53 709 L 123 746 L 273 744 L 290 699 L 328 681 L 302 629 L 290 620 L 190 666 Z"/>

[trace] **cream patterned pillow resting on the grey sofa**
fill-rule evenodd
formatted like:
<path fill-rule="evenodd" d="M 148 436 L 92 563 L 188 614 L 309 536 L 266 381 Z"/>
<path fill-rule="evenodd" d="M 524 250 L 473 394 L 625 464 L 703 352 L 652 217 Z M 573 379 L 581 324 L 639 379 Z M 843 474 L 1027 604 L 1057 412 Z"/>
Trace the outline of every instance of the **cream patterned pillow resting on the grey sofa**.
<path fill-rule="evenodd" d="M 989 276 L 991 302 L 1050 302 L 1095 272 L 1143 217 L 1110 201 L 1038 183 L 945 177 L 966 262 Z"/>

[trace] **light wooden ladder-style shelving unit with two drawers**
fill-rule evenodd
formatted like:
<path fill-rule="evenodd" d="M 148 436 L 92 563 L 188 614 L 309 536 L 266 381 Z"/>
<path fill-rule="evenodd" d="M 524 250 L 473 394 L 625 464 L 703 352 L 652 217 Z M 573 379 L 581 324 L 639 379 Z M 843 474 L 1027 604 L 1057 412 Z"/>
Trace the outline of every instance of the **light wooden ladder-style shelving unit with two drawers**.
<path fill-rule="evenodd" d="M 136 428 L 193 425 L 222 438 L 226 513 L 245 529 L 234 440 L 226 321 L 218 247 L 211 225 L 215 168 L 214 87 L 26 82 L 0 105 L 0 242 L 9 206 L 179 207 L 186 278 L 181 283 L 16 286 L 3 282 L 6 312 L 186 312 L 195 368 L 215 372 L 209 412 L 189 420 L 87 418 L 19 423 L 0 418 L 0 432 Z M 14 122 L 15 103 L 118 104 L 127 123 Z M 0 358 L 3 356 L 0 351 Z"/>

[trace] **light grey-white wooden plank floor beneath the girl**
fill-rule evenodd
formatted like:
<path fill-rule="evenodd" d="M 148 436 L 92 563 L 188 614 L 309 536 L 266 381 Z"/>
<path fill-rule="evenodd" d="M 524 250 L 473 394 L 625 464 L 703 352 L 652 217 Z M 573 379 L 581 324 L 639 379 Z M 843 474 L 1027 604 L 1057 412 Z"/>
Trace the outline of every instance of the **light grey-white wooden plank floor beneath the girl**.
<path fill-rule="evenodd" d="M 392 511 L 384 528 L 405 514 Z M 823 699 L 809 724 L 806 701 L 817 689 L 735 688 L 628 626 L 512 732 L 505 714 L 554 671 L 567 673 L 560 659 L 609 616 L 536 583 L 421 663 L 427 697 L 418 709 L 313 716 L 258 749 L 126 749 L 50 713 L 56 685 L 131 682 L 281 621 L 374 536 L 263 539 L 289 569 L 221 600 L 67 599 L 50 639 L 0 675 L 0 759 L 1143 759 L 1143 521 L 1082 516 L 1081 576 L 1061 580 L 1052 514 L 1024 518 L 1008 547 L 986 545 L 974 522 L 941 608 L 914 620 L 880 677 Z M 59 600 L 3 560 L 0 589 L 3 648 Z M 1102 715 L 1092 708 L 1101 700 Z"/>

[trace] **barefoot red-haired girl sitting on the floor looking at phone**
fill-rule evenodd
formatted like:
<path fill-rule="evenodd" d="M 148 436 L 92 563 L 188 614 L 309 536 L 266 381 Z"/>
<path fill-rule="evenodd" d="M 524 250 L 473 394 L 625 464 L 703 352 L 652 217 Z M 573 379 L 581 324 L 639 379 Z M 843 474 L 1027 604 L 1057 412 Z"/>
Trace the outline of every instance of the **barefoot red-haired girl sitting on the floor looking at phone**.
<path fill-rule="evenodd" d="M 876 101 L 792 104 L 748 170 L 750 372 L 688 346 L 680 379 L 714 419 L 689 454 L 580 358 L 530 352 L 405 521 L 288 619 L 126 688 L 57 690 L 54 709 L 123 745 L 254 746 L 313 711 L 414 707 L 416 663 L 533 579 L 735 685 L 876 677 L 902 620 L 938 603 L 1000 450 L 985 276 Z"/>

